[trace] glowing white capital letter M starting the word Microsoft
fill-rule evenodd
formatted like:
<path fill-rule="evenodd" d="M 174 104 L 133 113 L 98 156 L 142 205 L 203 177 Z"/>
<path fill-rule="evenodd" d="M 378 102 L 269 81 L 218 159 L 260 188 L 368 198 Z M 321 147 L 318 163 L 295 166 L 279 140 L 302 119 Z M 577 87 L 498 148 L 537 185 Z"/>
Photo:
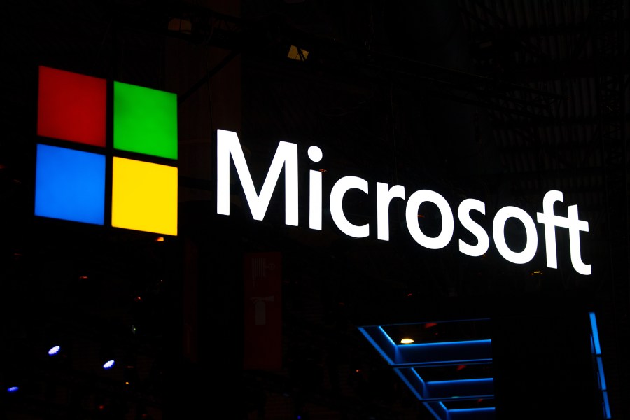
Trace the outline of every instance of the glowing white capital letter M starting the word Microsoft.
<path fill-rule="evenodd" d="M 230 156 L 237 169 L 251 216 L 262 221 L 284 167 L 285 223 L 297 226 L 297 144 L 281 141 L 269 167 L 260 195 L 251 179 L 239 137 L 235 132 L 217 130 L 216 135 L 216 212 L 230 214 Z"/>

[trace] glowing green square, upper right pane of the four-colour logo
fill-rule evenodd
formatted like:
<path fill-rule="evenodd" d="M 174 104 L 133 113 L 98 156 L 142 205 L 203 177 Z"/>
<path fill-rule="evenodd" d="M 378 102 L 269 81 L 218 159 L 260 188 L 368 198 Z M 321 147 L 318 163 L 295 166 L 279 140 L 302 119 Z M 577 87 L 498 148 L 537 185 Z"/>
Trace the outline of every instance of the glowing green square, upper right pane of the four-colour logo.
<path fill-rule="evenodd" d="M 177 95 L 127 83 L 113 85 L 113 146 L 177 159 Z"/>

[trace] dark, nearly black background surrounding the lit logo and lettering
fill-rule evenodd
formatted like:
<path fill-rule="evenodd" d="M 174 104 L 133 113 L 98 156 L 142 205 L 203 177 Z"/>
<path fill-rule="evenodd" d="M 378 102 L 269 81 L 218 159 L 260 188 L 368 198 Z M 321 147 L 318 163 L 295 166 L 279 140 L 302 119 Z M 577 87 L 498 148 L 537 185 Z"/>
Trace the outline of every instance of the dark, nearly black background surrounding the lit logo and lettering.
<path fill-rule="evenodd" d="M 0 113 L 0 403 L 6 419 L 431 419 L 357 330 L 484 317 L 499 419 L 601 419 L 589 347 L 598 317 L 612 419 L 629 419 L 628 1 L 9 1 Z M 187 26 L 190 23 L 190 28 Z M 289 59 L 290 45 L 309 52 Z M 37 69 L 179 97 L 179 235 L 33 215 Z M 391 209 L 391 240 L 216 214 L 217 129 L 255 181 L 297 143 L 319 146 L 325 197 L 346 175 L 427 188 L 452 209 L 579 204 L 582 260 L 525 265 L 454 239 L 432 251 Z M 242 193 L 232 189 L 236 203 Z M 374 194 L 347 196 L 371 222 Z M 426 210 L 431 215 L 431 209 Z M 566 210 L 564 210 L 566 211 Z M 432 232 L 439 221 L 422 221 Z M 519 226 L 506 231 L 516 247 Z M 244 370 L 243 261 L 282 258 L 282 365 Z M 542 274 L 533 274 L 535 270 Z M 56 341 L 68 349 L 45 358 Z M 44 349 L 44 353 L 41 352 Z M 99 360 L 122 360 L 102 371 Z M 129 386 L 123 385 L 130 381 Z M 14 382 L 20 393 L 5 393 Z"/>

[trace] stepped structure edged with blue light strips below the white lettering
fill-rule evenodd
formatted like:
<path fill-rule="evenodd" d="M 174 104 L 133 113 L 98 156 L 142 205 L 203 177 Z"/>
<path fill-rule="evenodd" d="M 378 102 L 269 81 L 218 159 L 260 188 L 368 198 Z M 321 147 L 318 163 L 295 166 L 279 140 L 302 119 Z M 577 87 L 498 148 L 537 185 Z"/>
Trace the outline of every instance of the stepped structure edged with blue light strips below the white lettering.
<path fill-rule="evenodd" d="M 451 328 L 454 333 L 447 337 L 426 334 L 428 326 L 444 323 L 367 325 L 358 329 L 437 420 L 494 419 L 494 379 L 490 369 L 478 370 L 477 376 L 473 374 L 465 378 L 440 378 L 440 374 L 433 374 L 432 378 L 426 376 L 431 376 L 428 374 L 431 369 L 454 372 L 464 367 L 470 370 L 471 366 L 492 365 L 491 339 L 470 339 L 470 334 L 462 332 L 467 323 L 478 324 L 487 320 L 448 322 L 449 326 L 458 328 Z M 396 328 L 407 331 L 416 328 L 425 334 L 412 344 L 399 344 L 400 337 L 393 337 Z"/>

